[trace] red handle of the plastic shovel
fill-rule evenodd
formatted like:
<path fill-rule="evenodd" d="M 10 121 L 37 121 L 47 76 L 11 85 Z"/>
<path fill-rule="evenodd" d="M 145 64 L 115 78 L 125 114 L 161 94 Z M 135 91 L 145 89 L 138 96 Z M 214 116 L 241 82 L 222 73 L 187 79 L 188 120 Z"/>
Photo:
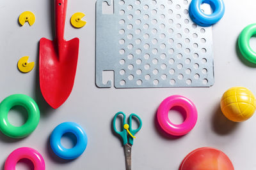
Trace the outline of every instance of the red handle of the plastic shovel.
<path fill-rule="evenodd" d="M 55 0 L 55 35 L 58 42 L 64 40 L 67 3 L 68 0 Z"/>

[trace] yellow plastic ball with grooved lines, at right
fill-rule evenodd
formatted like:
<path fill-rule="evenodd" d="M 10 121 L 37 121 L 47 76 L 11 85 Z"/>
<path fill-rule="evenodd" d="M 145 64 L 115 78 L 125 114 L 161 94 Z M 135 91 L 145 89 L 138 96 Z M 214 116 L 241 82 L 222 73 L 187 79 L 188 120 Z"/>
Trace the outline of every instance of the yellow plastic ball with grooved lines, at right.
<path fill-rule="evenodd" d="M 255 112 L 255 96 L 245 87 L 232 87 L 221 97 L 220 107 L 229 120 L 243 122 Z"/>

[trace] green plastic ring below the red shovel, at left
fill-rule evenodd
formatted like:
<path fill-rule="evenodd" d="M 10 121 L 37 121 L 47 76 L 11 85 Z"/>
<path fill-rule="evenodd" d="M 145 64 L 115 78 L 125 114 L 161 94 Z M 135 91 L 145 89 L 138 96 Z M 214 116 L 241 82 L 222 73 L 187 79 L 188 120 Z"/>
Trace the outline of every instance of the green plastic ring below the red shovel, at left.
<path fill-rule="evenodd" d="M 13 106 L 23 106 L 28 111 L 28 120 L 20 127 L 10 124 L 8 112 Z M 35 101 L 24 94 L 13 94 L 0 103 L 0 130 L 11 138 L 24 138 L 36 129 L 40 111 Z"/>

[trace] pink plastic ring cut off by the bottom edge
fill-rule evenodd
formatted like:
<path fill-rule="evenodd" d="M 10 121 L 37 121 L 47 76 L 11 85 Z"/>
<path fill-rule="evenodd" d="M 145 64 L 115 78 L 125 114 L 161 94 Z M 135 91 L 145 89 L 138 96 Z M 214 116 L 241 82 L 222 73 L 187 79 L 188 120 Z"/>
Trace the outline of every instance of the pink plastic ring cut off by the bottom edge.
<path fill-rule="evenodd" d="M 6 159 L 4 170 L 15 170 L 20 159 L 29 159 L 34 164 L 35 170 L 45 170 L 45 162 L 39 152 L 33 148 L 22 147 L 14 150 Z"/>

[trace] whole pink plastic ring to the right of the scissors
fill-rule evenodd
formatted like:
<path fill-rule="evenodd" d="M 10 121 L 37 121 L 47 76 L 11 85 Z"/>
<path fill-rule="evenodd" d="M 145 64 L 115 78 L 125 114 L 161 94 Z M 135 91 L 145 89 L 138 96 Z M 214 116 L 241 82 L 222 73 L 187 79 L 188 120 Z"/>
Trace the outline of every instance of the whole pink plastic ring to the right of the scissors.
<path fill-rule="evenodd" d="M 186 111 L 186 119 L 182 124 L 173 124 L 168 118 L 168 113 L 174 106 L 180 106 Z M 167 97 L 157 110 L 157 120 L 160 127 L 168 134 L 182 136 L 195 127 L 197 120 L 196 106 L 192 101 L 183 96 L 174 95 Z"/>

